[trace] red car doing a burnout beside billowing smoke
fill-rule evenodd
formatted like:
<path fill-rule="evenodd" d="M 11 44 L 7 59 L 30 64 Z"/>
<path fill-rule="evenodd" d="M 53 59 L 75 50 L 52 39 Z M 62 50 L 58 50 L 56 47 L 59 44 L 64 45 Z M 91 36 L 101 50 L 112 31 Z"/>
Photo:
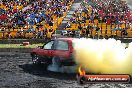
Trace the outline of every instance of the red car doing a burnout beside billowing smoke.
<path fill-rule="evenodd" d="M 75 65 L 73 39 L 74 38 L 53 39 L 42 47 L 33 49 L 31 51 L 33 63 L 45 63 L 46 65 L 56 63 L 59 66 Z"/>

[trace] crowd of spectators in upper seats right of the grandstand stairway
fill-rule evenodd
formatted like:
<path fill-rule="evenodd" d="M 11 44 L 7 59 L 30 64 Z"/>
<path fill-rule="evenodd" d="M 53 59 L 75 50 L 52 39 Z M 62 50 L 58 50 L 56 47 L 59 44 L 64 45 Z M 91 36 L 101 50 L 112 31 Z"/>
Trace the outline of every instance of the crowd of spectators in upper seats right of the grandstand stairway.
<path fill-rule="evenodd" d="M 86 0 L 85 3 L 90 4 L 90 8 L 86 5 L 81 5 L 70 19 L 73 23 L 86 22 L 94 19 L 99 21 L 110 23 L 122 23 L 122 22 L 132 22 L 131 10 L 128 8 L 127 4 L 120 0 Z M 82 12 L 87 14 L 82 16 Z"/>

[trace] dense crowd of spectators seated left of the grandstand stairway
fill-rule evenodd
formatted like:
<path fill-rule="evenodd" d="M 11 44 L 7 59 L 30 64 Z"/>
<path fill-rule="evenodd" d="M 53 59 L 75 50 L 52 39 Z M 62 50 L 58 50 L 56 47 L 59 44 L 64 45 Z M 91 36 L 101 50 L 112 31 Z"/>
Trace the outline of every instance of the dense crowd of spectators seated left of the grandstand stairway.
<path fill-rule="evenodd" d="M 56 25 L 54 20 L 63 17 L 71 1 L 74 0 L 1 0 L 0 29 L 10 31 L 14 27 L 23 27 L 20 31 L 26 28 L 27 32 L 42 35 L 48 31 L 46 24 L 53 30 L 52 26 Z"/>

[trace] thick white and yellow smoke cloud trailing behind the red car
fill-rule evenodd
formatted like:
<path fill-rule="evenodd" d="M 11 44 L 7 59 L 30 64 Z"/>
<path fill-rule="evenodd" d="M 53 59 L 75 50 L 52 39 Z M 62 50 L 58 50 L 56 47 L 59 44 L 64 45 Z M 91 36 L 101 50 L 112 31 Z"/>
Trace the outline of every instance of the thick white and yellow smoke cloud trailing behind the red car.
<path fill-rule="evenodd" d="M 125 49 L 115 39 L 75 39 L 75 61 L 88 72 L 132 75 L 132 43 Z"/>

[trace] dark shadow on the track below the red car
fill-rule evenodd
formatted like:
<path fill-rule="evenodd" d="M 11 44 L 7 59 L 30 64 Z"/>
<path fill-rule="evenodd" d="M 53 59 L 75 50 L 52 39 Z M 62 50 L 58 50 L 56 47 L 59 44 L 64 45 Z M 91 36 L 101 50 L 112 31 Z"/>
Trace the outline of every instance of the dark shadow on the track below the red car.
<path fill-rule="evenodd" d="M 59 73 L 59 72 L 51 72 L 46 70 L 46 66 L 44 65 L 35 65 L 35 64 L 23 64 L 19 65 L 20 68 L 23 69 L 24 72 L 48 78 L 56 78 L 61 80 L 76 80 L 76 74 L 74 73 Z"/>

